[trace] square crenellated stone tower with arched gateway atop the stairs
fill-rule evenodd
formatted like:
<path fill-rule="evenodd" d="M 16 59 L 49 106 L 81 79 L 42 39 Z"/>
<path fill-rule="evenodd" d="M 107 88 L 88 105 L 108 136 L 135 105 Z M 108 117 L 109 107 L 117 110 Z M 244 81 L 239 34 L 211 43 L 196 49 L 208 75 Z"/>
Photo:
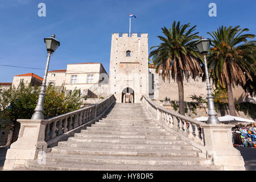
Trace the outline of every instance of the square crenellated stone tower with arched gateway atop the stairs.
<path fill-rule="evenodd" d="M 117 102 L 139 103 L 148 96 L 148 34 L 112 34 L 109 93 Z"/>

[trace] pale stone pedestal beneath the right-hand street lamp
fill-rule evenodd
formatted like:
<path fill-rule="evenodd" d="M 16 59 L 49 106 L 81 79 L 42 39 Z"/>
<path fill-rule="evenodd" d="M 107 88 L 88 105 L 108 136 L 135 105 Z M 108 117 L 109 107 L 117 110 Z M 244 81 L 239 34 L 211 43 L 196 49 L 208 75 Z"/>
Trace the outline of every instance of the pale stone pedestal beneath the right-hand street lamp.
<path fill-rule="evenodd" d="M 240 151 L 233 147 L 231 129 L 235 125 L 207 125 L 204 130 L 205 149 L 212 156 L 214 166 L 225 171 L 245 170 Z"/>

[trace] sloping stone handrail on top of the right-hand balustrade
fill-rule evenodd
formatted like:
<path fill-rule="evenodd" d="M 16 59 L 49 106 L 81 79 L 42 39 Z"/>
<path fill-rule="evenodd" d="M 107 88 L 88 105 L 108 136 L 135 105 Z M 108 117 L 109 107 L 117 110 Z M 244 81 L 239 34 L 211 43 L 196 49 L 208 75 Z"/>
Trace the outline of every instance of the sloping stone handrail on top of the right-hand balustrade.
<path fill-rule="evenodd" d="M 168 110 L 168 109 L 166 109 L 166 108 L 164 108 L 164 107 L 161 107 L 161 106 L 155 104 L 154 101 L 151 101 L 147 96 L 144 96 L 144 95 L 143 95 L 142 97 L 144 97 L 146 101 L 150 102 L 151 105 L 153 105 L 154 107 L 156 107 L 156 109 L 162 110 L 162 111 L 164 111 L 165 113 L 174 115 L 174 116 L 177 117 L 177 118 L 180 118 L 180 119 L 183 119 L 183 120 L 185 120 L 185 121 L 191 122 L 191 123 L 193 123 L 193 124 L 195 124 L 195 125 L 199 125 L 199 126 L 208 126 L 207 123 L 200 122 L 200 121 L 196 121 L 195 119 L 188 118 L 188 117 L 186 117 L 185 115 L 181 115 L 181 114 L 179 114 L 179 113 L 175 113 L 175 112 L 170 111 L 170 110 Z"/>

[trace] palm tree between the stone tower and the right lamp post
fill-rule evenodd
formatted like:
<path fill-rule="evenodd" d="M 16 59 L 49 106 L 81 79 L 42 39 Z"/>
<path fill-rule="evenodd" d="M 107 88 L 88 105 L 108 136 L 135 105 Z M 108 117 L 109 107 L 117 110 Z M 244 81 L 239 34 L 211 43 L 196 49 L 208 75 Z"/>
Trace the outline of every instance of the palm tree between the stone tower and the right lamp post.
<path fill-rule="evenodd" d="M 162 42 L 159 46 L 151 47 L 150 49 L 156 49 L 149 55 L 156 65 L 156 72 L 162 69 L 161 75 L 164 81 L 166 78 L 169 82 L 171 78 L 176 80 L 179 89 L 179 110 L 183 115 L 185 115 L 183 80 L 185 78 L 188 81 L 189 77 L 195 80 L 202 73 L 200 67 L 202 56 L 195 48 L 199 32 L 193 33 L 196 26 L 187 30 L 189 24 L 180 25 L 180 22 L 176 24 L 174 21 L 169 30 L 166 27 L 161 28 L 165 37 L 158 36 Z M 197 60 L 197 57 L 201 60 Z"/>

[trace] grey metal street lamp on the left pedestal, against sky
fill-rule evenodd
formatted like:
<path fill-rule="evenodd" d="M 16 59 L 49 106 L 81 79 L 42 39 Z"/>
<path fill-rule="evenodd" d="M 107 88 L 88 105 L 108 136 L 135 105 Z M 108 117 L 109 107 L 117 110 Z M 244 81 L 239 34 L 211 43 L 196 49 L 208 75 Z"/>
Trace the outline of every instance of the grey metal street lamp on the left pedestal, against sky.
<path fill-rule="evenodd" d="M 32 115 L 31 119 L 44 119 L 43 115 L 43 104 L 44 104 L 44 96 L 46 95 L 46 77 L 49 68 L 49 60 L 52 53 L 60 46 L 60 42 L 55 39 L 55 35 L 52 34 L 51 38 L 44 38 L 44 43 L 46 43 L 46 49 L 48 52 L 46 70 L 44 71 L 44 80 L 42 82 L 41 90 L 38 97 L 38 104 L 35 108 L 35 113 Z"/>

